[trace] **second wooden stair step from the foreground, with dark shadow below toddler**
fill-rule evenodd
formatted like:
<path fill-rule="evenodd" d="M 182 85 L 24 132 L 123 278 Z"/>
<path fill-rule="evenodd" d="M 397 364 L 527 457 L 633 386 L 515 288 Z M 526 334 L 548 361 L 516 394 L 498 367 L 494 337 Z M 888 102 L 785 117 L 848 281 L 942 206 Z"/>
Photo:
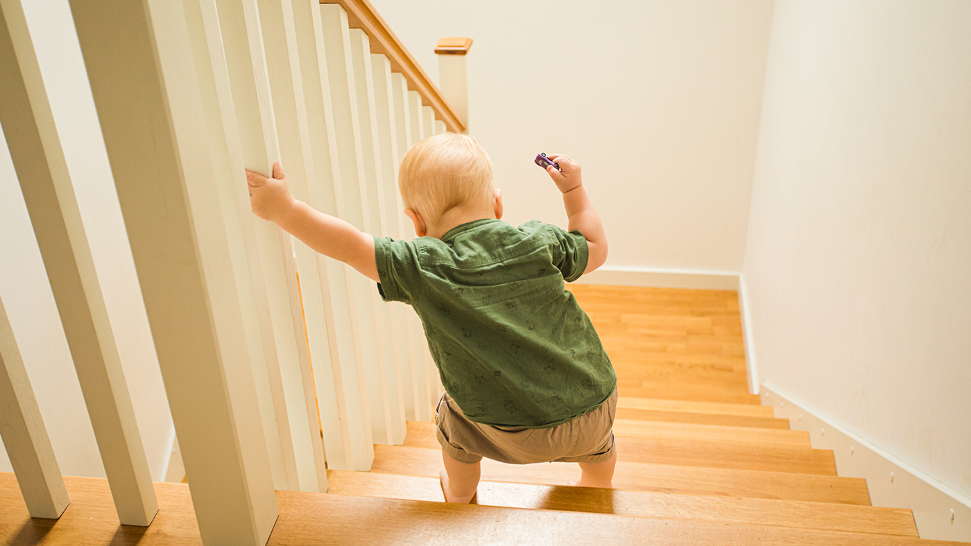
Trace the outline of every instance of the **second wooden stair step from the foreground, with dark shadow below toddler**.
<path fill-rule="evenodd" d="M 444 502 L 438 478 L 330 470 L 327 493 Z M 722 522 L 917 536 L 910 510 L 776 500 L 670 495 L 586 487 L 483 481 L 480 506 L 596 512 L 638 518 Z"/>

